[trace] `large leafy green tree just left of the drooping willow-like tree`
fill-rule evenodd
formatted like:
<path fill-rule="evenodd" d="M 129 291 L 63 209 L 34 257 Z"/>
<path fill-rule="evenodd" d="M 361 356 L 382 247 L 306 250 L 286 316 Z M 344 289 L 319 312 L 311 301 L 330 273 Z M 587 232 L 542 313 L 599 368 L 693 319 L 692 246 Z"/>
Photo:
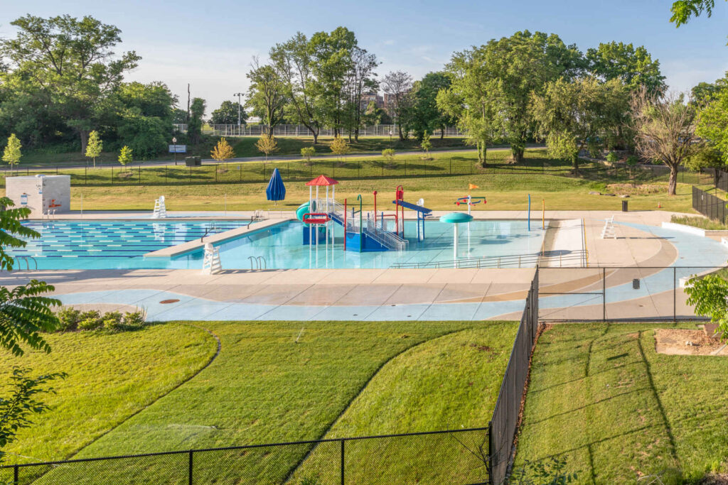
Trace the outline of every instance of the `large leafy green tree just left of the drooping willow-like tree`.
<path fill-rule="evenodd" d="M 553 33 L 529 31 L 491 40 L 478 49 L 483 51 L 488 78 L 494 81 L 494 113 L 505 131 L 514 161 L 522 161 L 534 127 L 528 109 L 531 96 L 542 93 L 549 81 L 578 76 L 584 68 L 582 53 Z"/>

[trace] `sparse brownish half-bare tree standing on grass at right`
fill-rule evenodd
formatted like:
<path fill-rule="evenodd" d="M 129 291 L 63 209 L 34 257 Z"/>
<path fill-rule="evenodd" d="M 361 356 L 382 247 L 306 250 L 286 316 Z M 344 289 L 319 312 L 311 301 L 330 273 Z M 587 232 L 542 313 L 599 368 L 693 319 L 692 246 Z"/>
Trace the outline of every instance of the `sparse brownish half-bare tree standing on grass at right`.
<path fill-rule="evenodd" d="M 646 89 L 633 95 L 631 107 L 637 152 L 670 168 L 668 195 L 674 196 L 678 167 L 695 151 L 695 108 L 682 95 L 651 95 Z"/>

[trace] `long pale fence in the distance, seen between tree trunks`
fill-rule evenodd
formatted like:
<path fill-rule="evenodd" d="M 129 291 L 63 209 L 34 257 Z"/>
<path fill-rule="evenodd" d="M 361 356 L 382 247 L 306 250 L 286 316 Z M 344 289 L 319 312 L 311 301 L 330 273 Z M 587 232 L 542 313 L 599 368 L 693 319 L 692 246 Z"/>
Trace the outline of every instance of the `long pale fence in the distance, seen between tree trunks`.
<path fill-rule="evenodd" d="M 178 132 L 187 132 L 186 124 L 175 124 L 175 130 Z M 259 137 L 263 133 L 268 132 L 268 127 L 264 124 L 243 124 L 240 127 L 237 124 L 204 124 L 202 125 L 202 133 L 205 135 L 215 135 L 222 137 Z M 398 136 L 396 124 L 376 124 L 371 127 L 361 127 L 359 129 L 360 137 L 389 137 L 396 138 Z M 342 136 L 347 136 L 347 132 L 342 132 Z M 302 124 L 279 124 L 273 128 L 273 136 L 276 137 L 313 137 L 311 131 Z M 319 132 L 320 137 L 333 137 L 333 128 L 322 128 Z M 462 137 L 462 131 L 457 127 L 446 127 L 446 137 Z M 440 130 L 432 133 L 433 138 L 440 137 Z"/>

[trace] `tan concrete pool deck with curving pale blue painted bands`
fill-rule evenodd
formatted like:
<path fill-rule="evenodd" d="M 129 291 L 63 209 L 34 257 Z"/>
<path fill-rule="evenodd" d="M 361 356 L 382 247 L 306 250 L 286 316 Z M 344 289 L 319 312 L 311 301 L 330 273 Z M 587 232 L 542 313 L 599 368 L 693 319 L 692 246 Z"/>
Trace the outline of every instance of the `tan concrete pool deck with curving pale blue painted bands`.
<path fill-rule="evenodd" d="M 238 214 L 249 218 L 252 212 Z M 254 223 L 251 229 L 279 223 L 292 213 L 276 215 L 279 217 Z M 479 220 L 527 217 L 526 212 L 501 211 L 480 211 L 473 215 Z M 612 215 L 617 223 L 617 239 L 600 239 L 604 219 Z M 667 275 L 665 270 L 650 267 L 697 266 L 703 262 L 717 267 L 728 259 L 728 248 L 708 238 L 684 235 L 679 236 L 679 241 L 670 241 L 675 233 L 660 228 L 662 222 L 670 220 L 670 215 L 670 212 L 546 212 L 547 220 L 584 220 L 583 226 L 569 226 L 569 231 L 575 233 L 566 239 L 575 241 L 578 236 L 580 243 L 582 232 L 585 233 L 590 266 L 624 269 L 604 270 L 604 275 L 598 270 L 587 274 L 582 269 L 571 270 L 580 273 L 564 269 L 558 276 L 550 276 L 552 281 L 542 279 L 542 286 L 553 291 L 579 288 L 592 291 L 597 286 L 601 289 L 601 278 L 607 278 L 608 300 L 614 300 L 609 302 L 609 308 L 614 307 L 610 311 L 624 311 L 624 299 L 645 300 L 647 303 L 638 304 L 646 308 L 644 311 L 659 308 L 664 303 L 661 301 L 668 298 L 662 286 L 667 284 L 668 277 L 672 281 L 673 272 Z M 84 218 L 91 217 L 86 214 Z M 124 214 L 114 213 L 113 218 L 124 218 Z M 534 221 L 537 227 L 539 223 L 540 220 Z M 210 240 L 212 237 L 207 239 Z M 712 254 L 709 260 L 701 256 L 706 251 Z M 0 284 L 13 286 L 31 278 L 42 279 L 55 285 L 55 295 L 66 305 L 100 310 L 145 308 L 149 318 L 158 321 L 485 320 L 518 318 L 533 274 L 532 268 L 223 270 L 217 275 L 202 275 L 199 270 L 38 270 L 0 273 Z M 627 292 L 632 278 L 649 281 L 654 292 Z M 178 301 L 161 303 L 164 300 Z M 569 302 L 556 298 L 542 303 L 543 307 L 551 308 L 550 313 L 568 305 Z M 583 317 L 602 311 L 601 305 L 588 302 L 579 305 L 579 314 Z"/>

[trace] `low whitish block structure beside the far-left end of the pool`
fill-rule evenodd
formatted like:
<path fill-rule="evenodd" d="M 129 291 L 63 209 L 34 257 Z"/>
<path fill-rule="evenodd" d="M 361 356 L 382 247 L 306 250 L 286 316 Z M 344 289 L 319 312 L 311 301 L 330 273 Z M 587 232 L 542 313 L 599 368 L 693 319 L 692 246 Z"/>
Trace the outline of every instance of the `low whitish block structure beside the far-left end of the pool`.
<path fill-rule="evenodd" d="M 15 207 L 31 209 L 30 217 L 71 211 L 71 175 L 7 177 L 5 195 Z"/>

